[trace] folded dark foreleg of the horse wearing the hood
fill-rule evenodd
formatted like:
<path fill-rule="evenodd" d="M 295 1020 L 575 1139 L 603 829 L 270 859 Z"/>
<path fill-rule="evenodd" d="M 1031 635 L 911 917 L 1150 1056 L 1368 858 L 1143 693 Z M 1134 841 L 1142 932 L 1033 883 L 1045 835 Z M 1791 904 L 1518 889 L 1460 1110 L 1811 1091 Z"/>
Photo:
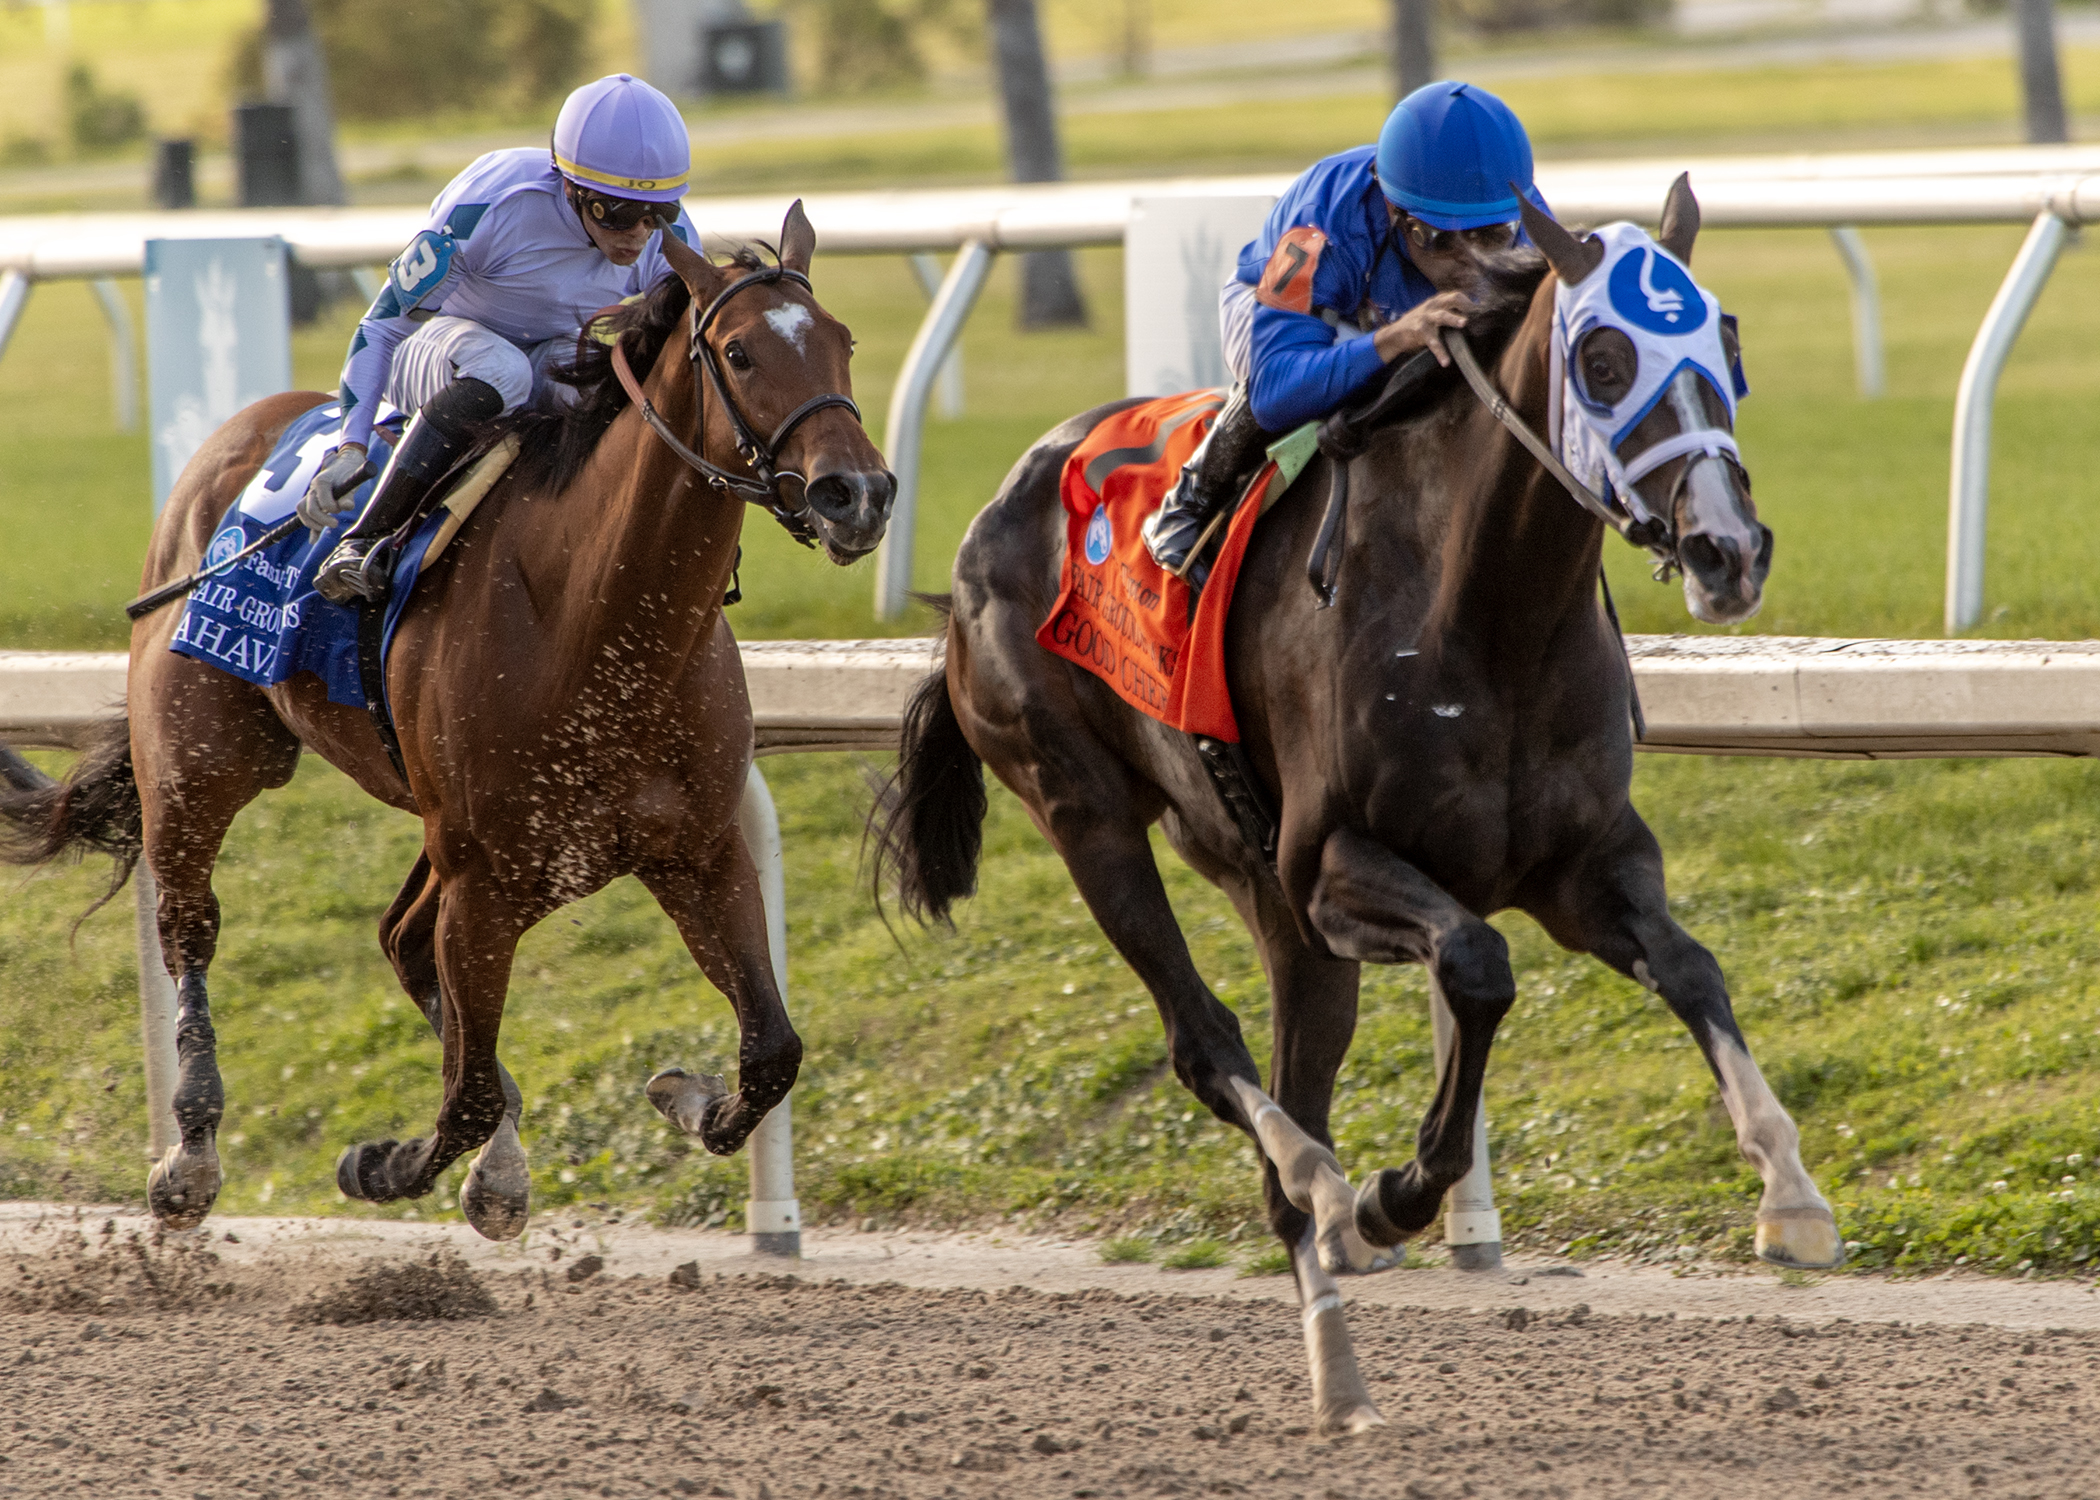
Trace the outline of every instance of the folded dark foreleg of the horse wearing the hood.
<path fill-rule="evenodd" d="M 1340 958 L 1428 964 L 1451 1011 L 1453 1036 L 1415 1160 L 1373 1172 L 1357 1193 L 1357 1229 L 1373 1246 L 1394 1246 L 1428 1229 L 1445 1191 L 1474 1170 L 1487 1055 L 1516 1000 L 1510 947 L 1426 874 L 1348 828 L 1321 847 L 1308 916 Z"/>

